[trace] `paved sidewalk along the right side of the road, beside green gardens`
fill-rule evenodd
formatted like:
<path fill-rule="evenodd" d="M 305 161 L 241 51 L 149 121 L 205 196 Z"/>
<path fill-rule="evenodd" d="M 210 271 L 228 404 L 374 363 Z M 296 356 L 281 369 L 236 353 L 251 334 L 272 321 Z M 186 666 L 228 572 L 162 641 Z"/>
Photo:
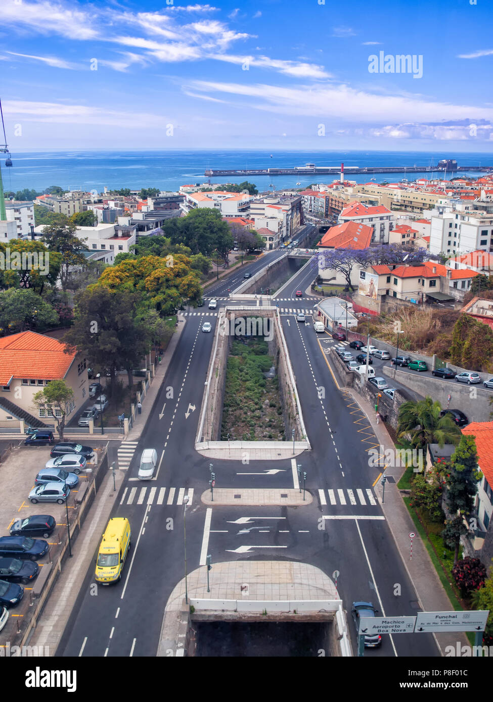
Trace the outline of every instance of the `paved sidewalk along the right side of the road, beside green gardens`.
<path fill-rule="evenodd" d="M 345 388 L 345 391 L 350 392 L 355 402 L 366 414 L 378 442 L 383 445 L 384 449 L 394 450 L 395 446 L 385 424 L 383 422 L 376 423 L 373 406 L 352 388 Z M 416 538 L 413 539 L 412 560 L 410 558 L 411 539 L 409 534 L 416 533 L 416 527 L 397 488 L 397 482 L 399 482 L 403 472 L 404 468 L 389 468 L 385 471 L 385 475 L 393 477 L 395 482 L 388 480 L 385 483 L 385 503 L 382 503 L 382 486 L 378 482 L 378 485 L 375 486 L 377 499 L 401 554 L 404 567 L 418 595 L 419 607 L 423 611 L 454 611 L 419 534 L 416 534 Z M 442 656 L 446 646 L 452 646 L 455 650 L 457 642 L 460 642 L 461 645 L 469 644 L 466 634 L 461 632 L 440 633 L 434 634 L 434 636 Z"/>

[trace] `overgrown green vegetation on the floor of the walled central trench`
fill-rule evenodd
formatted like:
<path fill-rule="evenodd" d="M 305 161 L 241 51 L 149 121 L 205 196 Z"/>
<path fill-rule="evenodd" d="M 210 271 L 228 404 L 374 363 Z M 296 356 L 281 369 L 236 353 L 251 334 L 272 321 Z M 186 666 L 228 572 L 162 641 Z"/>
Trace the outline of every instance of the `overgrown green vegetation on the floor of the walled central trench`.
<path fill-rule="evenodd" d="M 278 378 L 265 378 L 274 366 L 261 336 L 233 340 L 226 366 L 221 439 L 284 441 Z"/>

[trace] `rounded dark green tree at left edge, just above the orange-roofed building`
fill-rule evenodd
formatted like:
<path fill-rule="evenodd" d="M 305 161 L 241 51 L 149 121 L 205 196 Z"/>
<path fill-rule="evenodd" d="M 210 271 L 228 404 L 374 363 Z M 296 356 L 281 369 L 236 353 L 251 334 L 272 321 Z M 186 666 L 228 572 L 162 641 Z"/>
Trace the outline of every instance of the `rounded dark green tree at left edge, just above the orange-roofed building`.
<path fill-rule="evenodd" d="M 0 333 L 32 329 L 44 331 L 58 323 L 58 314 L 46 300 L 32 289 L 0 292 Z"/>

